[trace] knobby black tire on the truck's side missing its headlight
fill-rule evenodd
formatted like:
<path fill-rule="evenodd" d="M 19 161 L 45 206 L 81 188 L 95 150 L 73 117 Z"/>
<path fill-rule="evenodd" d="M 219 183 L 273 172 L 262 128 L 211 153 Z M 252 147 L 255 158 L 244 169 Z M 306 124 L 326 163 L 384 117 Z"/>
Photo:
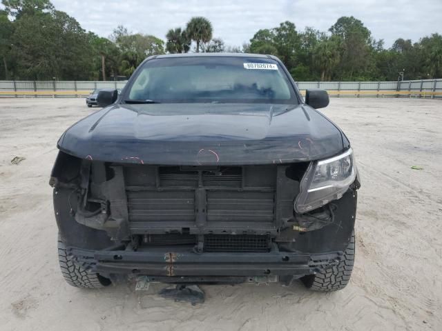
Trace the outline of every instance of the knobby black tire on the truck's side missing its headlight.
<path fill-rule="evenodd" d="M 66 246 L 58 237 L 58 261 L 64 280 L 76 288 L 103 288 L 111 284 L 111 281 L 96 273 L 90 273 L 76 265 L 66 252 Z"/>

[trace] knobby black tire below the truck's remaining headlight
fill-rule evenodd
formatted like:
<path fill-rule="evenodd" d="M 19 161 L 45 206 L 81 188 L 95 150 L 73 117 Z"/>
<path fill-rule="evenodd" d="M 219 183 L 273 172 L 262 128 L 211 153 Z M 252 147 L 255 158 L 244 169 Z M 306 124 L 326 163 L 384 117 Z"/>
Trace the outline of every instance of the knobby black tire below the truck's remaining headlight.
<path fill-rule="evenodd" d="M 354 263 L 354 232 L 350 239 L 349 245 L 344 252 L 343 259 L 337 265 L 330 268 L 325 268 L 316 272 L 316 274 L 309 274 L 301 278 L 306 288 L 314 291 L 332 292 L 342 290 L 352 276 Z"/>

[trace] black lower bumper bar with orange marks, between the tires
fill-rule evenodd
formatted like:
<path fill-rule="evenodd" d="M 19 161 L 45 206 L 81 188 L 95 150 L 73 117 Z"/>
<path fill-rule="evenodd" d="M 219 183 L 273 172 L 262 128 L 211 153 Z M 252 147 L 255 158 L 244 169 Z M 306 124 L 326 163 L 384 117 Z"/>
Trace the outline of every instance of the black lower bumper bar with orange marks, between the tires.
<path fill-rule="evenodd" d="M 105 277 L 147 276 L 162 281 L 176 278 L 209 281 L 229 277 L 295 277 L 314 274 L 320 268 L 335 265 L 343 252 L 305 254 L 280 252 L 273 245 L 270 252 L 204 252 L 189 249 L 176 250 L 84 250 L 68 248 L 74 261 L 88 272 Z M 153 277 L 153 278 L 152 278 Z"/>

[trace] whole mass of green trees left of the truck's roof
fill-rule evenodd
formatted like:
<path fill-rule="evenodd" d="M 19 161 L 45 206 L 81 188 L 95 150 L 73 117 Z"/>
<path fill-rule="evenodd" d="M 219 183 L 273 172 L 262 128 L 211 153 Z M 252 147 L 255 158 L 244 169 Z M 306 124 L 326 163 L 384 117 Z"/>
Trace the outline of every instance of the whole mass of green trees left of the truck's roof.
<path fill-rule="evenodd" d="M 130 76 L 164 41 L 119 26 L 109 40 L 86 32 L 48 0 L 3 0 L 0 75 L 5 79 L 108 79 Z M 10 21 L 8 15 L 13 18 Z"/>

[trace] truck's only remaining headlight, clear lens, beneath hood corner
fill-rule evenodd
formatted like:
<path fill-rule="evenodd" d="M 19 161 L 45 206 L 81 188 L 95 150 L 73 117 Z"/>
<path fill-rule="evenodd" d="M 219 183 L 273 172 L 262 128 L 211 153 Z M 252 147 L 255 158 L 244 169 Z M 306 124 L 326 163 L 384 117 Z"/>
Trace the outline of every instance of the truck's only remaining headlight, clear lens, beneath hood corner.
<path fill-rule="evenodd" d="M 355 178 L 352 148 L 337 157 L 311 162 L 300 182 L 296 212 L 302 214 L 340 199 Z"/>

